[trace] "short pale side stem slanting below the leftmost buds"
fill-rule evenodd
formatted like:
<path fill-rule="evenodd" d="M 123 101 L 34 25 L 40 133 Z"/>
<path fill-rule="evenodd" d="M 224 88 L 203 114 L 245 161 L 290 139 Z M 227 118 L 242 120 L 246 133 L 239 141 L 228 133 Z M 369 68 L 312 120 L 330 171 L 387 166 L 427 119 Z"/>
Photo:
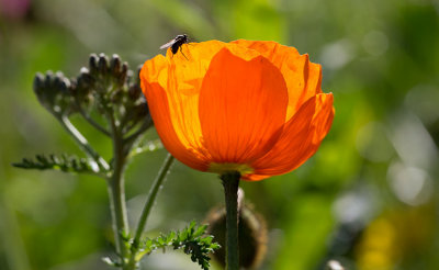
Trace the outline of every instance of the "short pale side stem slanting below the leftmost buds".
<path fill-rule="evenodd" d="M 110 169 L 109 164 L 106 164 L 105 159 L 101 157 L 90 145 L 89 142 L 87 142 L 86 137 L 82 136 L 82 134 L 71 124 L 68 117 L 66 116 L 56 116 L 59 121 L 59 123 L 63 125 L 63 127 L 66 130 L 68 134 L 70 134 L 75 140 L 78 143 L 78 145 L 81 147 L 83 151 L 88 156 L 90 156 L 100 168 L 103 168 L 105 171 Z"/>

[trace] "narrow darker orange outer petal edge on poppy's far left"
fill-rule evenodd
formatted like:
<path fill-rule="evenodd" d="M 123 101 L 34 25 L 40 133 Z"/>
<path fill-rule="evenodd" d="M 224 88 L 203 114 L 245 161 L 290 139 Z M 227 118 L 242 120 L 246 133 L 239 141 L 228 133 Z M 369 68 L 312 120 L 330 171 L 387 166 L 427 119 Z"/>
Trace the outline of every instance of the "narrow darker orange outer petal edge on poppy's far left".
<path fill-rule="evenodd" d="M 148 101 L 157 133 L 166 149 L 187 166 L 205 171 L 209 166 L 206 157 L 198 150 L 183 145 L 177 135 L 169 110 L 169 100 L 165 89 L 158 83 L 158 74 L 166 72 L 165 57 L 157 56 L 144 64 L 140 71 L 142 89 Z"/>

